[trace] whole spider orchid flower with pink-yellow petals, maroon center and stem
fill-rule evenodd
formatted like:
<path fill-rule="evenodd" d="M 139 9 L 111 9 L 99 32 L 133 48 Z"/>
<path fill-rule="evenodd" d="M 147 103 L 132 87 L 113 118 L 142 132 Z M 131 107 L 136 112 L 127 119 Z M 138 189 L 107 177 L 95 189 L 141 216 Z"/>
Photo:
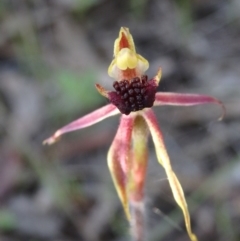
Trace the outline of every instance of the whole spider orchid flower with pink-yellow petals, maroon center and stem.
<path fill-rule="evenodd" d="M 136 53 L 132 35 L 128 28 L 122 27 L 114 43 L 114 59 L 108 74 L 115 79 L 113 88 L 96 88 L 108 98 L 110 104 L 62 127 L 44 141 L 54 143 L 62 134 L 91 126 L 107 117 L 121 114 L 120 125 L 108 152 L 107 161 L 118 196 L 131 225 L 134 240 L 144 237 L 144 184 L 148 162 L 148 136 L 153 138 L 158 162 L 166 175 L 175 201 L 183 212 L 187 233 L 192 241 L 197 240 L 191 229 L 190 215 L 181 184 L 172 169 L 163 136 L 153 106 L 175 105 L 193 106 L 216 103 L 225 112 L 223 104 L 207 95 L 156 92 L 161 77 L 157 75 L 148 80 L 145 71 L 148 61 Z"/>

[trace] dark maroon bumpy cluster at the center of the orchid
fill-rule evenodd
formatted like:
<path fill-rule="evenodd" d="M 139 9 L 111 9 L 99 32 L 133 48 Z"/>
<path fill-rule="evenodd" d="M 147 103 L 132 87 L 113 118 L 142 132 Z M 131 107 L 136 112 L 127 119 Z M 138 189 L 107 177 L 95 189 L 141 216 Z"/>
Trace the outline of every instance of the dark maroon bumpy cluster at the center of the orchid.
<path fill-rule="evenodd" d="M 110 102 L 123 114 L 153 106 L 157 85 L 154 80 L 148 81 L 146 75 L 115 81 L 113 87 L 116 91 L 109 93 Z"/>

